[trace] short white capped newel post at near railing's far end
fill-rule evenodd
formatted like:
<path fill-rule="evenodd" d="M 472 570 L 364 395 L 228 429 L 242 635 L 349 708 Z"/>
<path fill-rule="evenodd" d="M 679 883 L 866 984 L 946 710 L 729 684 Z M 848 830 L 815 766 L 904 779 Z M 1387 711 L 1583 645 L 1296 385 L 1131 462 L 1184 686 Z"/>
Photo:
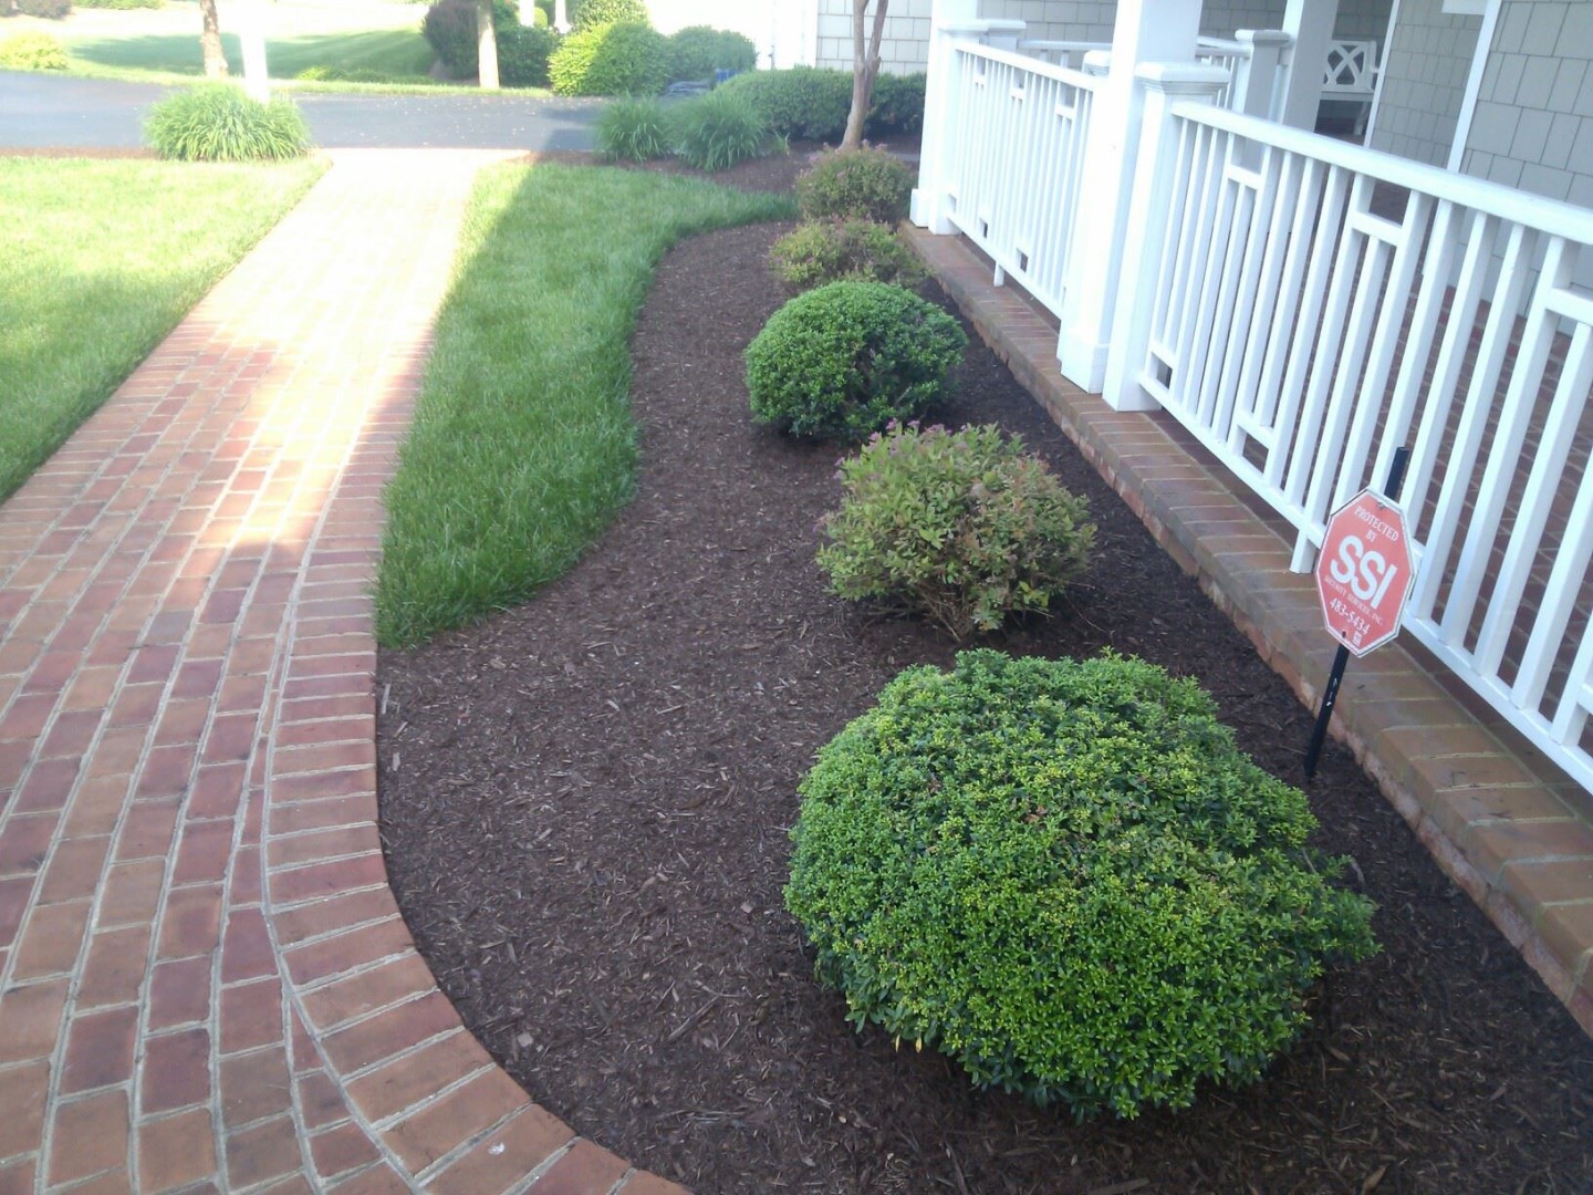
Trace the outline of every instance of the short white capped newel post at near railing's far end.
<path fill-rule="evenodd" d="M 1172 218 L 1172 177 L 1179 139 L 1171 108 L 1180 100 L 1212 104 L 1227 84 L 1222 67 L 1149 64 L 1139 69 L 1145 89 L 1144 124 L 1134 191 L 1128 204 L 1133 229 L 1123 245 L 1123 279 L 1117 290 L 1112 349 L 1107 354 L 1101 397 L 1114 411 L 1153 411 L 1157 400 L 1139 384 L 1150 344 L 1150 320 L 1161 274 L 1161 233 Z"/>

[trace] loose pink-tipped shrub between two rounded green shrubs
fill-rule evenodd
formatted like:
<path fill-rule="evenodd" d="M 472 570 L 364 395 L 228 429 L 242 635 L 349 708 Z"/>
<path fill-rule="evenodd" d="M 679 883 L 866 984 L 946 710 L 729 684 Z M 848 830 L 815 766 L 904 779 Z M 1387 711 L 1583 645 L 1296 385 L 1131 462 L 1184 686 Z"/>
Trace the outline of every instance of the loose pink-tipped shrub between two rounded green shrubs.
<path fill-rule="evenodd" d="M 999 427 L 892 427 L 841 462 L 819 566 L 852 601 L 922 613 L 954 639 L 1045 612 L 1083 575 L 1094 524 Z"/>

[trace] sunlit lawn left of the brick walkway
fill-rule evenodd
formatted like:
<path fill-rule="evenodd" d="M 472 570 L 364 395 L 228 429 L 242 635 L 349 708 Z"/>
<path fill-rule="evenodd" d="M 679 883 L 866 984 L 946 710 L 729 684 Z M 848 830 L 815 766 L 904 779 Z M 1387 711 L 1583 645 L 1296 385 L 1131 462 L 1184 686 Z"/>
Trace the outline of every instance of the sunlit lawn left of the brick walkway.
<path fill-rule="evenodd" d="M 0 499 L 323 169 L 0 158 Z"/>

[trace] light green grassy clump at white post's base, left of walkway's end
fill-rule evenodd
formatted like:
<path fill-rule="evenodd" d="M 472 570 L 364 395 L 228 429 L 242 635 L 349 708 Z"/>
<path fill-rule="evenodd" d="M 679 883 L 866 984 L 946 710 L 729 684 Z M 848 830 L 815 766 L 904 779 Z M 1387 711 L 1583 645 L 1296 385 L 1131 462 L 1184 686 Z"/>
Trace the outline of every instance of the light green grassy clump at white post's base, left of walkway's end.
<path fill-rule="evenodd" d="M 143 135 L 162 158 L 250 163 L 299 158 L 309 127 L 290 99 L 261 104 L 234 83 L 199 83 L 150 110 Z"/>

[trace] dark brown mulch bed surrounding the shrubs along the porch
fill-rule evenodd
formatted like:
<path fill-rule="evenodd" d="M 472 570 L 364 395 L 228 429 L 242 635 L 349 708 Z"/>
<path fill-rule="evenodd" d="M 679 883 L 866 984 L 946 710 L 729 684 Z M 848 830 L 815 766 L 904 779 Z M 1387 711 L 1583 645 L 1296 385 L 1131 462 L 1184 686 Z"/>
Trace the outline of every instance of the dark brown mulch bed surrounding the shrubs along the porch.
<path fill-rule="evenodd" d="M 784 298 L 761 268 L 776 233 L 660 268 L 634 343 L 639 496 L 586 559 L 381 660 L 393 889 L 494 1056 L 703 1192 L 1593 1190 L 1593 1042 L 1337 747 L 1309 786 L 1319 841 L 1356 857 L 1384 950 L 1330 975 L 1262 1082 L 1075 1125 L 846 1025 L 781 903 L 796 784 L 900 668 L 953 647 L 825 594 L 836 451 L 747 416 L 741 351 Z M 956 394 L 938 419 L 1021 432 L 1101 526 L 1072 602 L 996 645 L 1200 677 L 1297 781 L 1309 712 L 1249 642 L 983 347 Z"/>

